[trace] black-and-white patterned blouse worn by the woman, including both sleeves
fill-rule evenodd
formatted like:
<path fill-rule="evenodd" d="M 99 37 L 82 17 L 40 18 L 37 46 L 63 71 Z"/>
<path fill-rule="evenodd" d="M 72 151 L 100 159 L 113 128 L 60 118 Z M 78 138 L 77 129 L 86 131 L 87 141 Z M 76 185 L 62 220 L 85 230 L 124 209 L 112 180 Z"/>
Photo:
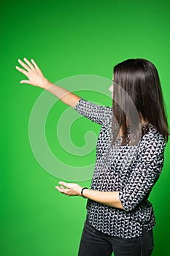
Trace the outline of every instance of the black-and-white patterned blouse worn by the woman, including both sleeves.
<path fill-rule="evenodd" d="M 112 108 L 80 99 L 74 107 L 82 116 L 101 125 L 96 146 L 96 165 L 90 189 L 119 191 L 125 210 L 88 199 L 87 217 L 102 233 L 120 238 L 142 236 L 142 227 L 155 227 L 155 214 L 147 198 L 163 167 L 165 140 L 149 124 L 136 146 L 120 146 L 112 140 Z"/>

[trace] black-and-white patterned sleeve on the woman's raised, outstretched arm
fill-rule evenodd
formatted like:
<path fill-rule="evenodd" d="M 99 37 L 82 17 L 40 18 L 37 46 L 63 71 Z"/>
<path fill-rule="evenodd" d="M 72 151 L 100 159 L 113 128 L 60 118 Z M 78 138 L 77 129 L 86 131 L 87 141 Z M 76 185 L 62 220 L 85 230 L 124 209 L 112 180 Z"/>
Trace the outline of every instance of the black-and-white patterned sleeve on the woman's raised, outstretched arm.
<path fill-rule="evenodd" d="M 101 125 L 104 124 L 107 116 L 112 115 L 112 108 L 104 105 L 96 105 L 82 98 L 77 102 L 77 105 L 74 106 L 74 110 L 77 110 L 78 113 L 90 119 L 90 121 Z"/>

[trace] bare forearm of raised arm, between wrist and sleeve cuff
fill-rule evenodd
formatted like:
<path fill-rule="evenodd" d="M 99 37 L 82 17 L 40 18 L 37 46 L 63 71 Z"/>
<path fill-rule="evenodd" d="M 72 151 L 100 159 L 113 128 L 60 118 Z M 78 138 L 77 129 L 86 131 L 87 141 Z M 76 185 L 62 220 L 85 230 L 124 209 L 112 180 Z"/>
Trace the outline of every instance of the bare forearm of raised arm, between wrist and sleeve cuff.
<path fill-rule="evenodd" d="M 47 81 L 47 85 L 45 86 L 46 90 L 50 93 L 54 94 L 58 99 L 61 99 L 63 103 L 69 105 L 74 108 L 77 105 L 77 102 L 81 99 L 76 94 L 73 94 L 71 91 L 64 89 L 61 86 L 56 86 L 54 83 Z"/>

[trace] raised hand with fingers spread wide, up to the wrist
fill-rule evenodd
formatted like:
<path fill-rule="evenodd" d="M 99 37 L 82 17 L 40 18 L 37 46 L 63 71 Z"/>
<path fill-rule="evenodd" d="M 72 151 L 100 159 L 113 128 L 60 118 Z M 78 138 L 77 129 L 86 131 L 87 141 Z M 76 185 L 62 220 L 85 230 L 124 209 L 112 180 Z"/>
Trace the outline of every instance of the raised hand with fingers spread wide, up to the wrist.
<path fill-rule="evenodd" d="M 20 63 L 21 66 L 24 67 L 24 69 L 18 66 L 15 66 L 15 67 L 16 69 L 18 69 L 18 71 L 23 73 L 23 75 L 26 75 L 28 80 L 21 80 L 20 83 L 28 83 L 28 84 L 31 84 L 32 86 L 38 86 L 38 87 L 41 87 L 42 89 L 47 89 L 50 82 L 49 80 L 47 80 L 47 78 L 44 77 L 44 75 L 42 74 L 42 71 L 39 69 L 34 59 L 31 59 L 32 63 L 28 61 L 28 59 L 26 58 L 24 58 L 23 60 L 26 61 L 26 63 L 24 63 L 20 59 L 18 59 L 18 62 Z"/>

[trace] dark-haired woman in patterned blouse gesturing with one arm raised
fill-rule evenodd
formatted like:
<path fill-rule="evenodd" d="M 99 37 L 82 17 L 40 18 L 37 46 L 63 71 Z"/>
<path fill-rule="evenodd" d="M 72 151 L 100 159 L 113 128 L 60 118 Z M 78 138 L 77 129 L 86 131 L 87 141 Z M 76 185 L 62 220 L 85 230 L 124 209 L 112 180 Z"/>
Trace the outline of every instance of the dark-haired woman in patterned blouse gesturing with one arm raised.
<path fill-rule="evenodd" d="M 66 195 L 88 198 L 79 256 L 149 256 L 155 214 L 147 200 L 163 168 L 169 131 L 158 71 L 146 59 L 114 67 L 112 108 L 95 105 L 50 83 L 34 60 L 16 67 L 28 83 L 46 89 L 101 125 L 90 189 L 60 181 Z M 26 70 L 25 70 L 26 69 Z"/>

